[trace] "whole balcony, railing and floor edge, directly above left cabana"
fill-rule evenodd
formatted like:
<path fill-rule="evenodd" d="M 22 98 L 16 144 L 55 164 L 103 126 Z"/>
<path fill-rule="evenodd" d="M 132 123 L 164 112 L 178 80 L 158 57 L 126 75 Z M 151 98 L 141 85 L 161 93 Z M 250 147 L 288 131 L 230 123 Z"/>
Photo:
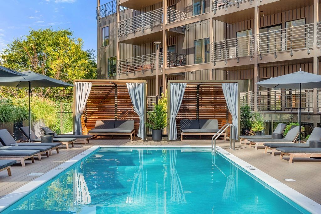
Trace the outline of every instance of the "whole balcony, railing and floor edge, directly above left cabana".
<path fill-rule="evenodd" d="M 163 53 L 159 54 L 158 68 L 162 69 Z M 155 75 L 156 71 L 156 53 L 142 56 L 135 56 L 128 59 L 117 61 L 117 74 L 122 78 L 141 78 Z M 160 70 L 161 72 L 161 70 Z"/>

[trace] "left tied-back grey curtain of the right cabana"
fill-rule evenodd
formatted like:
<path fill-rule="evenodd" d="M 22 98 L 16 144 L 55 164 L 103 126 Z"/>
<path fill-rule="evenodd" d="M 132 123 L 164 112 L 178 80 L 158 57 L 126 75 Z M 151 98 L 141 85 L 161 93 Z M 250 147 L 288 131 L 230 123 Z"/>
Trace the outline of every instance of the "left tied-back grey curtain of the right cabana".
<path fill-rule="evenodd" d="M 182 104 L 186 83 L 170 84 L 170 122 L 169 122 L 169 140 L 177 139 L 176 116 Z"/>

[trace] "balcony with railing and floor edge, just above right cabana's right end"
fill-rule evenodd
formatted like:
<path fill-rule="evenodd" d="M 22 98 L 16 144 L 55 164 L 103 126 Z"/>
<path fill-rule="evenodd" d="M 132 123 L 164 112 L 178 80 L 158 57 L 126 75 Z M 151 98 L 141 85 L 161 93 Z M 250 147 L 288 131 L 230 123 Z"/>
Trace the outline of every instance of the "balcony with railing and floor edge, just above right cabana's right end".
<path fill-rule="evenodd" d="M 231 38 L 212 43 L 215 69 L 253 64 L 254 35 Z"/>

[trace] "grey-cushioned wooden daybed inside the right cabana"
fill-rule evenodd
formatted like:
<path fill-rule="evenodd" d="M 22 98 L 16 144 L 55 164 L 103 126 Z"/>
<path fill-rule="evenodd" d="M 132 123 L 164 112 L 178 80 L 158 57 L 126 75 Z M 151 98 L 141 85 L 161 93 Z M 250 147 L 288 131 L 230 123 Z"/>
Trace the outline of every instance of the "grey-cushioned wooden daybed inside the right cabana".
<path fill-rule="evenodd" d="M 215 135 L 219 131 L 217 119 L 182 119 L 180 121 L 181 141 L 184 135 Z M 226 141 L 226 133 L 221 133 Z"/>

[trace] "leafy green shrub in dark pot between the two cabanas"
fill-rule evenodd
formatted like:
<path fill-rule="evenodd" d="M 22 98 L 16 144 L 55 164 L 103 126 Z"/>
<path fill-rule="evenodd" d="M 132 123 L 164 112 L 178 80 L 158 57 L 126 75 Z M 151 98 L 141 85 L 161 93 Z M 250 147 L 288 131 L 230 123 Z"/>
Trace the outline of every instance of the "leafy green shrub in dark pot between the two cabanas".
<path fill-rule="evenodd" d="M 167 99 L 162 97 L 158 104 L 154 104 L 154 111 L 148 112 L 149 122 L 146 127 L 152 129 L 152 140 L 161 141 L 163 129 L 167 126 Z"/>

